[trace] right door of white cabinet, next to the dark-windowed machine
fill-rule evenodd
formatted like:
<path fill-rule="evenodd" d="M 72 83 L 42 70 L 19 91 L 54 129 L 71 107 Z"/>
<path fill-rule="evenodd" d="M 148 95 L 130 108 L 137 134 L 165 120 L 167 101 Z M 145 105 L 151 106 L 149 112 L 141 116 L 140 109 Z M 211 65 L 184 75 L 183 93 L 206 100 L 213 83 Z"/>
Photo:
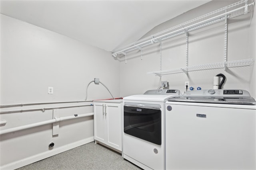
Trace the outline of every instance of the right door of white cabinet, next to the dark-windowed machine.
<path fill-rule="evenodd" d="M 115 149 L 122 150 L 121 104 L 106 103 L 106 106 L 108 145 Z"/>

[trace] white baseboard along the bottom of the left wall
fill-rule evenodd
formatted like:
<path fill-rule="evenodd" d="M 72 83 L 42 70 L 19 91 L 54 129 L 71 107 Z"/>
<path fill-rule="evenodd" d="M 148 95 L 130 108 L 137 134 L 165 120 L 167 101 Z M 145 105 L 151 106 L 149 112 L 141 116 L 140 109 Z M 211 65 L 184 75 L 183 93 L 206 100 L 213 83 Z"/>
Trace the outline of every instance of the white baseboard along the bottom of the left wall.
<path fill-rule="evenodd" d="M 90 143 L 92 141 L 94 141 L 93 136 L 89 137 L 87 139 L 83 139 L 83 140 L 74 142 L 74 143 L 70 143 L 68 145 L 64 145 L 62 147 L 58 147 L 58 148 L 55 148 L 55 149 L 52 149 L 52 150 L 49 150 L 49 151 L 46 151 L 46 152 L 42 152 L 42 153 L 34 155 L 34 156 L 30 156 L 28 158 L 24 158 L 22 160 L 18 160 L 16 162 L 12 162 L 10 164 L 6 164 L 4 166 L 0 166 L 0 169 L 1 170 L 17 169 L 17 168 L 20 168 L 22 166 L 26 166 L 28 164 L 32 164 L 32 163 L 37 162 L 39 160 L 48 158 L 48 157 L 56 155 L 56 154 L 59 154 L 59 153 L 64 152 L 66 150 L 70 150 L 70 149 L 73 149 L 75 147 L 79 147 L 79 146 L 84 145 L 86 143 Z"/>

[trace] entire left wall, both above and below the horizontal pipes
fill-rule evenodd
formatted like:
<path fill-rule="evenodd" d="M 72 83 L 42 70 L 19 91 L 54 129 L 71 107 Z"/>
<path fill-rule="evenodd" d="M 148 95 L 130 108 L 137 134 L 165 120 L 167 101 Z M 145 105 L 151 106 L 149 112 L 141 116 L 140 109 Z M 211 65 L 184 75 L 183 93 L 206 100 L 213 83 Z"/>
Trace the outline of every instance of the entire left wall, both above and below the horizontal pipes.
<path fill-rule="evenodd" d="M 86 30 L 85 30 L 86 31 Z M 119 61 L 111 53 L 1 14 L 1 105 L 85 100 L 86 86 L 100 78 L 119 97 Z M 54 94 L 48 94 L 48 87 Z M 88 100 L 111 98 L 101 84 L 90 84 Z M 86 105 L 92 102 L 5 107 L 4 110 Z M 56 110 L 55 110 L 56 111 Z M 57 109 L 59 116 L 93 112 L 92 106 Z M 53 111 L 1 113 L 1 130 L 53 118 Z M 1 135 L 1 169 L 18 168 L 93 141 L 93 116 Z M 54 142 L 54 149 L 49 149 Z M 43 156 L 42 156 L 43 155 Z M 25 159 L 24 158 L 28 158 Z M 20 161 L 22 160 L 22 161 Z M 18 163 L 17 163 L 18 161 Z M 17 164 L 15 164 L 17 163 Z"/>

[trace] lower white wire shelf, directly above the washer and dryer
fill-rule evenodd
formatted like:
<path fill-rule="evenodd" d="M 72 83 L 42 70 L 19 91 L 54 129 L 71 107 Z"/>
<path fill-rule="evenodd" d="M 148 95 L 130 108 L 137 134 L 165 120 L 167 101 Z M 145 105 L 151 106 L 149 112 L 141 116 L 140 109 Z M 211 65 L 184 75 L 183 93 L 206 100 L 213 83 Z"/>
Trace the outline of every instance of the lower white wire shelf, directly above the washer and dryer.
<path fill-rule="evenodd" d="M 162 75 L 166 75 L 166 74 L 176 74 L 176 73 L 181 73 L 181 72 L 187 73 L 190 71 L 225 68 L 225 66 L 227 66 L 227 67 L 249 66 L 252 63 L 254 63 L 254 59 L 244 59 L 244 60 L 226 61 L 226 62 L 220 62 L 220 63 L 194 65 L 194 66 L 176 68 L 176 69 L 172 69 L 172 70 L 148 72 L 147 74 L 156 74 L 157 76 L 162 76 Z"/>

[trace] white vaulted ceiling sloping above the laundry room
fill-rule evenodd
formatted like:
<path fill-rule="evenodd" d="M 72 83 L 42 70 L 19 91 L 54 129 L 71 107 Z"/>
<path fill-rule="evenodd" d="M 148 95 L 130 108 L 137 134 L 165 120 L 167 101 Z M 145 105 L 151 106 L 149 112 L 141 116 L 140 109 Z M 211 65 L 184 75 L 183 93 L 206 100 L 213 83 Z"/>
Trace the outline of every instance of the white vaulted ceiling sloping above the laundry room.
<path fill-rule="evenodd" d="M 1 0 L 1 14 L 106 51 L 210 0 Z"/>

